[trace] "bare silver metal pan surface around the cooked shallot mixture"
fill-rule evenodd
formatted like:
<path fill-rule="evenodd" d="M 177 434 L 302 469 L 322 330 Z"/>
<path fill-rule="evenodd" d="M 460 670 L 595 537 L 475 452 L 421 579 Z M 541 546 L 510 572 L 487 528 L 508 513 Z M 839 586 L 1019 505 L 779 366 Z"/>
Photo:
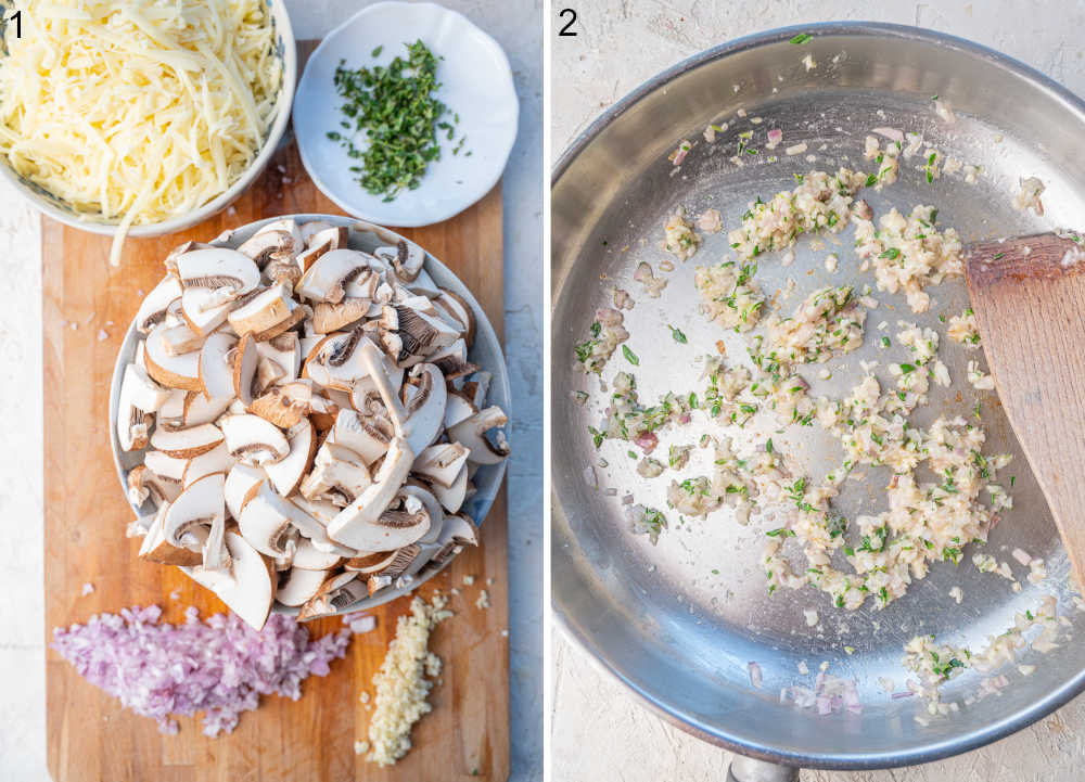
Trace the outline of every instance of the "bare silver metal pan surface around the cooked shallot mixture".
<path fill-rule="evenodd" d="M 801 31 L 813 35 L 803 46 L 789 43 Z M 809 54 L 810 70 L 801 62 Z M 932 95 L 948 100 L 956 123 L 940 119 Z M 744 108 L 746 119 L 737 118 Z M 763 121 L 753 124 L 752 117 Z M 715 144 L 702 139 L 710 123 L 728 121 Z M 618 350 L 604 368 L 608 383 L 620 370 L 635 372 L 642 400 L 674 390 L 703 389 L 698 356 L 715 350 L 724 338 L 730 357 L 745 355 L 741 338 L 706 322 L 698 313 L 693 271 L 729 253 L 726 231 L 740 221 L 748 203 L 794 187 L 794 174 L 834 170 L 845 165 L 860 170 L 864 138 L 872 128 L 892 127 L 921 132 L 927 142 L 982 166 L 976 183 L 961 175 L 928 183 L 919 156 L 902 163 L 899 181 L 881 193 L 864 191 L 876 217 L 889 207 L 902 211 L 916 204 L 940 209 L 941 227 L 956 227 L 967 242 L 1032 233 L 1052 226 L 1080 222 L 1085 214 L 1085 106 L 1061 87 L 1031 68 L 968 41 L 910 27 L 873 24 L 828 24 L 775 30 L 743 38 L 706 51 L 647 82 L 607 111 L 566 151 L 552 181 L 552 475 L 553 605 L 567 633 L 614 676 L 651 706 L 687 730 L 740 753 L 794 766 L 829 768 L 888 767 L 917 764 L 963 752 L 1004 736 L 1049 714 L 1085 688 L 1085 645 L 1063 643 L 1041 655 L 1025 651 L 1019 662 L 1035 664 L 1011 680 L 998 697 L 961 706 L 952 718 L 916 721 L 924 715 L 918 697 L 892 700 L 880 678 L 904 689 L 907 671 L 901 664 L 903 644 L 916 633 L 935 633 L 940 641 L 982 648 L 987 636 L 1009 629 L 1014 612 L 1034 608 L 1055 593 L 1060 615 L 1071 623 L 1064 633 L 1080 637 L 1085 614 L 1074 610 L 1068 589 L 1068 565 L 1047 504 L 1000 410 L 994 392 L 979 393 L 965 380 L 966 352 L 945 337 L 939 315 L 959 313 L 968 306 L 960 278 L 930 287 L 930 311 L 915 315 L 899 295 L 877 290 L 880 306 L 867 318 L 861 349 L 826 364 L 803 368 L 813 395 L 841 397 L 864 372 L 860 361 L 879 361 L 875 370 L 883 387 L 891 386 L 886 366 L 906 361 L 895 344 L 883 350 L 880 335 L 895 335 L 898 320 L 931 326 L 942 335 L 940 355 L 954 385 L 948 392 L 932 387 L 931 402 L 914 416 L 929 424 L 939 414 L 972 414 L 976 399 L 987 433 L 986 452 L 1009 452 L 1013 462 L 999 475 L 1012 489 L 1014 507 L 1006 512 L 982 549 L 969 546 L 959 566 L 935 564 L 930 575 L 914 582 L 908 593 L 878 611 L 873 600 L 859 611 L 845 612 L 829 598 L 806 588 L 778 590 L 768 595 L 760 565 L 766 526 L 756 521 L 739 526 L 726 510 L 706 521 L 672 525 L 653 547 L 634 536 L 623 517 L 622 498 L 631 491 L 638 502 L 665 508 L 665 489 L 675 473 L 644 480 L 627 456 L 629 445 L 616 440 L 596 450 L 588 427 L 597 426 L 605 394 L 596 376 L 582 374 L 573 362 L 573 347 L 582 342 L 599 307 L 612 306 L 612 290 L 625 289 L 637 298 L 626 312 L 629 348 L 639 357 L 630 367 Z M 770 128 L 783 130 L 783 141 L 766 151 Z M 738 133 L 752 130 L 744 165 L 731 159 Z M 667 155 L 680 139 L 697 141 L 675 174 Z M 807 152 L 786 155 L 783 149 L 805 142 Z M 771 162 L 770 155 L 779 159 Z M 807 159 L 813 155 L 813 159 Z M 1012 207 L 1020 177 L 1038 176 L 1047 184 L 1046 216 L 1039 218 Z M 723 213 L 725 231 L 706 235 L 697 255 L 669 274 L 659 299 L 641 294 L 633 280 L 636 265 L 659 262 L 662 226 L 677 206 L 695 217 L 707 207 Z M 781 254 L 758 260 L 758 282 L 770 298 L 781 292 L 780 305 L 793 309 L 813 289 L 851 282 L 870 284 L 870 273 L 858 270 L 851 228 L 826 238 L 824 248 L 801 240 L 796 258 L 781 266 Z M 839 270 L 827 272 L 825 257 L 835 252 Z M 788 279 L 794 293 L 782 299 Z M 890 328 L 879 332 L 877 324 Z M 668 324 L 679 328 L 688 344 L 677 344 Z M 756 333 L 756 332 L 755 332 Z M 982 360 L 982 357 L 980 357 Z M 732 359 L 728 359 L 732 360 Z M 582 407 L 571 394 L 585 390 Z M 1055 426 L 1057 421 L 1037 421 Z M 812 478 L 825 475 L 842 461 L 839 446 L 818 427 L 788 427 L 776 433 L 775 422 L 762 418 L 736 434 L 739 440 L 764 443 L 771 434 Z M 666 458 L 668 443 L 661 437 Z M 741 446 L 740 446 L 741 447 Z M 600 466 L 601 461 L 607 466 Z M 585 470 L 595 466 L 598 489 Z M 689 472 L 689 471 L 686 471 Z M 863 480 L 846 482 L 837 507 L 854 517 L 859 511 L 885 509 L 888 473 L 865 469 Z M 613 489 L 615 491 L 608 491 Z M 756 517 L 755 517 L 756 518 Z M 1010 552 L 1020 547 L 1046 560 L 1050 576 L 1030 584 L 1027 568 Z M 986 551 L 1008 562 L 1022 589 L 995 574 L 980 574 L 972 554 Z M 963 593 L 958 605 L 949 590 Z M 807 627 L 804 610 L 816 610 L 817 628 Z M 844 651 L 848 645 L 852 654 Z M 764 672 L 760 689 L 752 687 L 748 663 Z M 779 693 L 789 684 L 810 685 L 799 674 L 805 661 L 810 671 L 830 663 L 829 672 L 855 677 L 865 708 L 817 717 L 813 709 L 781 705 Z M 968 670 L 943 688 L 945 701 L 962 702 L 982 676 Z"/>

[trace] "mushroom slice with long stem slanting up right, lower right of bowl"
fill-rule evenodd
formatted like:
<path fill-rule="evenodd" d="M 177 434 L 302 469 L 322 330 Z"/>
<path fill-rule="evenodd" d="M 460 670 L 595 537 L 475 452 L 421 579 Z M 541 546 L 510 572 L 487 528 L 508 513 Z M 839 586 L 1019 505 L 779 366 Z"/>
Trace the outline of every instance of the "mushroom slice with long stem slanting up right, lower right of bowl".
<path fill-rule="evenodd" d="M 413 461 L 414 454 L 407 439 L 394 438 L 387 456 L 373 476 L 373 483 L 332 520 L 328 525 L 328 537 L 359 551 L 380 551 L 382 546 L 397 549 L 417 540 L 417 537 L 411 538 L 410 535 L 403 533 L 393 534 L 398 527 L 384 526 L 381 523 L 385 511 L 396 501 L 399 487 L 407 479 Z M 421 507 L 420 502 L 418 504 Z M 422 516 L 424 513 L 417 518 L 417 524 L 423 524 Z M 398 524 L 406 520 L 393 517 L 391 521 Z M 419 536 L 424 535 L 426 528 L 429 528 L 427 522 Z M 409 530 L 410 527 L 404 529 Z"/>

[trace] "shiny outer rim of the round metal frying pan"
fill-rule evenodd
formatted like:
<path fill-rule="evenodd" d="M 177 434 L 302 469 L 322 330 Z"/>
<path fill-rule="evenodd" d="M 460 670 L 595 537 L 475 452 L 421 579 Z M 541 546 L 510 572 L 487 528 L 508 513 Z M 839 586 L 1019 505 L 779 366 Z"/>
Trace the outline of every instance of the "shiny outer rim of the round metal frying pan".
<path fill-rule="evenodd" d="M 847 35 L 864 37 L 889 37 L 897 40 L 915 40 L 928 44 L 935 44 L 950 50 L 956 50 L 971 55 L 988 65 L 1000 68 L 1009 74 L 1026 81 L 1033 89 L 1046 93 L 1058 101 L 1085 125 L 1085 101 L 1070 92 L 1054 79 L 1044 75 L 1036 68 L 1025 63 L 1003 54 L 983 44 L 970 41 L 959 36 L 953 36 L 935 30 L 923 29 L 910 25 L 898 25 L 879 22 L 825 22 L 818 24 L 804 24 L 788 27 L 777 27 L 762 33 L 755 33 L 740 38 L 732 39 L 716 47 L 706 49 L 686 60 L 678 62 L 672 67 L 649 78 L 640 84 L 615 104 L 604 110 L 604 112 L 591 121 L 565 149 L 561 157 L 553 166 L 551 172 L 551 191 L 558 187 L 562 177 L 569 171 L 573 163 L 579 155 L 614 121 L 622 117 L 628 110 L 638 102 L 654 93 L 658 89 L 674 81 L 680 76 L 692 72 L 701 66 L 716 60 L 751 51 L 767 44 L 788 41 L 800 33 L 815 36 Z M 551 258 L 551 269 L 554 259 Z M 558 298 L 564 280 L 557 275 L 552 281 L 551 290 L 551 313 L 554 302 Z M 551 389 L 551 398 L 553 397 Z M 560 499 L 551 485 L 551 523 L 557 521 L 567 522 Z M 554 549 L 554 538 L 551 534 L 551 551 Z M 911 766 L 930 762 L 954 755 L 958 755 L 971 749 L 975 749 L 992 742 L 1004 739 L 1016 733 L 1037 720 L 1048 716 L 1056 709 L 1069 703 L 1075 696 L 1085 691 L 1085 669 L 1080 670 L 1076 676 L 1068 679 L 1062 685 L 1051 690 L 1045 696 L 1030 704 L 1027 707 L 1018 710 L 1000 720 L 991 722 L 981 728 L 963 733 L 953 739 L 917 743 L 906 749 L 899 751 L 878 751 L 870 753 L 805 753 L 790 752 L 777 745 L 762 743 L 755 740 L 743 739 L 736 735 L 733 731 L 710 726 L 702 720 L 698 720 L 682 708 L 664 703 L 654 697 L 647 688 L 639 685 L 629 676 L 626 676 L 617 666 L 608 662 L 602 655 L 596 654 L 591 640 L 573 625 L 566 616 L 563 604 L 557 599 L 557 592 L 551 592 L 551 607 L 554 624 L 560 628 L 564 637 L 572 642 L 580 652 L 600 669 L 607 671 L 628 690 L 633 691 L 651 712 L 662 717 L 669 723 L 690 733 L 702 741 L 715 744 L 742 755 L 768 760 L 787 766 L 797 766 L 802 768 L 860 770 L 876 768 L 894 768 L 899 766 Z"/>

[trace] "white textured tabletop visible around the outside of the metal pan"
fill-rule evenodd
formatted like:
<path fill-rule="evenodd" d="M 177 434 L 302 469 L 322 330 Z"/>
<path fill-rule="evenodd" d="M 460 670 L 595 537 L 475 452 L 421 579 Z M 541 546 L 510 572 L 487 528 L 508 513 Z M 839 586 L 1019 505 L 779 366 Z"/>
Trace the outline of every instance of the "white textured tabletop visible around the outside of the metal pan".
<path fill-rule="evenodd" d="M 577 36 L 550 20 L 551 139 L 557 158 L 599 113 L 641 81 L 702 49 L 770 27 L 872 20 L 970 38 L 1039 68 L 1085 94 L 1085 3 L 846 2 L 821 0 L 557 0 L 577 11 Z M 725 777 L 728 753 L 640 706 L 559 633 L 553 644 L 550 735 L 554 782 L 701 782 Z M 809 782 L 1076 782 L 1085 779 L 1085 697 L 983 749 L 907 769 L 804 771 Z"/>

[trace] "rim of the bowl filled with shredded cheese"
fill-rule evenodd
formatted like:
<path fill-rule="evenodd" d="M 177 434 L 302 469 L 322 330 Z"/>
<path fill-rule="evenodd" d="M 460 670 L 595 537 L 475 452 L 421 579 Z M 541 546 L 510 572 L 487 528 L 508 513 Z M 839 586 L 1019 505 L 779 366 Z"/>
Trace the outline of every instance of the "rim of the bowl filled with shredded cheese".
<path fill-rule="evenodd" d="M 286 132 L 286 128 L 290 125 L 294 107 L 294 91 L 297 88 L 297 43 L 294 40 L 294 28 L 290 22 L 290 13 L 286 11 L 285 0 L 267 1 L 270 3 L 276 28 L 279 31 L 283 43 L 282 86 L 280 87 L 279 98 L 280 102 L 282 102 L 282 111 L 279 112 L 276 116 L 275 123 L 271 124 L 271 129 L 268 131 L 268 137 L 263 146 L 260 146 L 260 151 L 238 181 L 231 184 L 227 190 L 222 191 L 219 195 L 215 196 L 212 201 L 208 201 L 206 204 L 193 211 L 171 217 L 163 222 L 132 226 L 128 229 L 128 236 L 135 239 L 139 239 L 140 236 L 162 236 L 167 233 L 183 231 L 187 228 L 195 226 L 197 222 L 203 222 L 212 215 L 225 209 L 233 201 L 235 201 L 238 196 L 247 190 L 253 181 L 259 177 L 260 174 L 263 174 L 267 164 L 270 162 L 271 156 L 279 149 L 279 143 L 282 141 L 282 138 Z M 28 201 L 36 209 L 41 211 L 43 215 L 58 220 L 59 222 L 63 222 L 65 226 L 71 226 L 72 228 L 77 228 L 80 231 L 87 231 L 88 233 L 97 233 L 102 236 L 112 236 L 117 232 L 117 222 L 80 220 L 79 218 L 73 216 L 72 213 L 49 203 L 41 195 L 27 188 L 27 185 L 24 184 L 15 172 L 12 171 L 7 165 L 0 165 L 0 176 L 11 182 L 20 195 Z"/>

